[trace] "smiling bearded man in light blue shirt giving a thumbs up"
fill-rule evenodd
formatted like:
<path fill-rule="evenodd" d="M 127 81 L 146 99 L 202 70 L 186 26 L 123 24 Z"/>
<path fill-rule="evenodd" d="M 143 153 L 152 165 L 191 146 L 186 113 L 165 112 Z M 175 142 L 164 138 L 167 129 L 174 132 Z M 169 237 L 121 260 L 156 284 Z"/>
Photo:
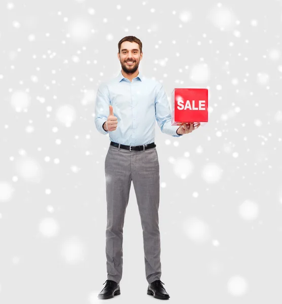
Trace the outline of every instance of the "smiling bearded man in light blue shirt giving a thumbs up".
<path fill-rule="evenodd" d="M 171 111 L 163 86 L 138 71 L 143 57 L 139 39 L 126 36 L 118 49 L 121 71 L 118 77 L 99 86 L 95 103 L 96 128 L 101 134 L 109 134 L 111 140 L 105 157 L 108 280 L 98 298 L 120 294 L 123 224 L 132 181 L 143 229 L 147 294 L 168 299 L 160 280 L 160 180 L 155 124 L 157 120 L 161 131 L 174 137 L 191 133 L 199 125 L 171 126 Z"/>

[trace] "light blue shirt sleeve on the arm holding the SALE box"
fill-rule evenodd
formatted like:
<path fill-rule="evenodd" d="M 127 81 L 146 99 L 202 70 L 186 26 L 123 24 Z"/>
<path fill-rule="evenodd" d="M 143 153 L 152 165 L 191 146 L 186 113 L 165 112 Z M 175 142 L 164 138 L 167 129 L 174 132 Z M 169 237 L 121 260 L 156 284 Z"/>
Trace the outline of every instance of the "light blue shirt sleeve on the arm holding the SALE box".
<path fill-rule="evenodd" d="M 163 85 L 155 98 L 156 120 L 163 133 L 174 137 L 180 137 L 183 134 L 177 134 L 179 126 L 171 126 L 171 110 L 165 94 Z"/>

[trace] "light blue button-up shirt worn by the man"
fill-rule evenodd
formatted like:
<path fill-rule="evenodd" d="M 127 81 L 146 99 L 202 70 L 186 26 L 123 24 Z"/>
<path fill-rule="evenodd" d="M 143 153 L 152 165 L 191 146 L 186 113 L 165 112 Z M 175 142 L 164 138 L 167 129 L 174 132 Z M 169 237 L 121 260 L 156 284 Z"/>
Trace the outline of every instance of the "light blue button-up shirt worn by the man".
<path fill-rule="evenodd" d="M 113 106 L 118 118 L 115 131 L 105 131 L 102 127 Z M 155 141 L 155 125 L 163 133 L 174 137 L 179 126 L 171 126 L 171 110 L 163 88 L 158 81 L 146 78 L 142 73 L 132 79 L 119 75 L 99 85 L 95 102 L 95 125 L 101 134 L 109 134 L 111 141 L 136 146 Z"/>

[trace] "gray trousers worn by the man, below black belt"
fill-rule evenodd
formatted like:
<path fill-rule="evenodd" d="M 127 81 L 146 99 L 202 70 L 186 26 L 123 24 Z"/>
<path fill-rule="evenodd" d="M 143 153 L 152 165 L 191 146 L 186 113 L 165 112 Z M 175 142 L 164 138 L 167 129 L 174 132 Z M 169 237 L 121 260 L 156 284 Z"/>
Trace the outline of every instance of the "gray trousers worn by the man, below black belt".
<path fill-rule="evenodd" d="M 105 157 L 107 195 L 106 256 L 108 280 L 120 283 L 123 266 L 123 224 L 131 180 L 143 229 L 148 283 L 161 278 L 159 199 L 160 176 L 156 147 L 130 151 L 110 145 Z"/>

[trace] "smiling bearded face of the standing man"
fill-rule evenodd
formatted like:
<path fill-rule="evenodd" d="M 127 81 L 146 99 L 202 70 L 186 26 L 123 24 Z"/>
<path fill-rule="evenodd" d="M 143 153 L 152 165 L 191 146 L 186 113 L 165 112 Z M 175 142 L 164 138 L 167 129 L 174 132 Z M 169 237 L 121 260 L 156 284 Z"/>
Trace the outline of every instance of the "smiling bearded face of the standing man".
<path fill-rule="evenodd" d="M 143 54 L 140 53 L 139 45 L 136 42 L 125 41 L 121 44 L 118 58 L 120 60 L 122 69 L 127 74 L 132 74 L 137 70 L 142 56 Z M 133 63 L 128 61 L 133 61 Z"/>

